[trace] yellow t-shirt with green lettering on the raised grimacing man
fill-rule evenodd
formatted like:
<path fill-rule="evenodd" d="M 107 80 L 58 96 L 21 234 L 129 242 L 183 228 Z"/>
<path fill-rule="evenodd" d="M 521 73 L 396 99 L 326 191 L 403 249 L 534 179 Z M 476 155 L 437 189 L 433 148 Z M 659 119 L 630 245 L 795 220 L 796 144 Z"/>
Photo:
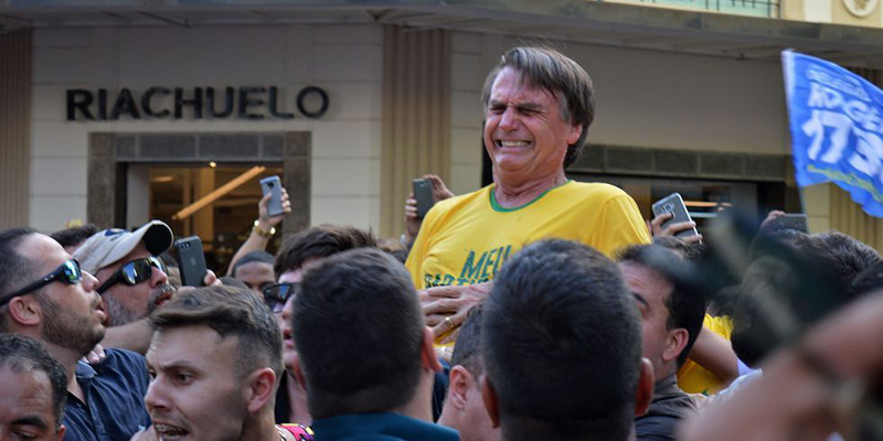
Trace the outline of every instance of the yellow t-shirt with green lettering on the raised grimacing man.
<path fill-rule="evenodd" d="M 607 257 L 650 243 L 637 204 L 616 186 L 571 181 L 524 206 L 503 208 L 491 184 L 436 204 L 405 266 L 418 290 L 474 284 L 493 279 L 515 251 L 544 238 L 575 240 Z"/>

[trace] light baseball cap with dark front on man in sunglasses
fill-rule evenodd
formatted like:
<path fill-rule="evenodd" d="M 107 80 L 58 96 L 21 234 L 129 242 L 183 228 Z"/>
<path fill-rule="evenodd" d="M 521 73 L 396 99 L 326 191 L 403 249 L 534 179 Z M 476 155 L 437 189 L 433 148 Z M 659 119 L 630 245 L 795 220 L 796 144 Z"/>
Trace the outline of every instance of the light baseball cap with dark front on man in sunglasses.
<path fill-rule="evenodd" d="M 162 220 L 150 220 L 135 232 L 120 228 L 100 230 L 83 243 L 74 252 L 74 259 L 84 271 L 95 273 L 99 269 L 126 257 L 138 244 L 143 241 L 147 251 L 153 256 L 162 254 L 172 246 L 174 235 Z"/>

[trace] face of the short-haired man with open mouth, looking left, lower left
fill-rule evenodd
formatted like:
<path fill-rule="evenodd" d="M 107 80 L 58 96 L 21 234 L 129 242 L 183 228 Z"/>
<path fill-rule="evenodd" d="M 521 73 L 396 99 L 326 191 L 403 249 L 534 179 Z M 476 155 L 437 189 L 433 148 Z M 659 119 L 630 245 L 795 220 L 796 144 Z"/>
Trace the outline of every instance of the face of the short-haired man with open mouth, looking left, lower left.
<path fill-rule="evenodd" d="M 248 417 L 236 372 L 237 337 L 208 326 L 157 331 L 147 352 L 150 387 L 145 405 L 164 441 L 236 439 Z"/>

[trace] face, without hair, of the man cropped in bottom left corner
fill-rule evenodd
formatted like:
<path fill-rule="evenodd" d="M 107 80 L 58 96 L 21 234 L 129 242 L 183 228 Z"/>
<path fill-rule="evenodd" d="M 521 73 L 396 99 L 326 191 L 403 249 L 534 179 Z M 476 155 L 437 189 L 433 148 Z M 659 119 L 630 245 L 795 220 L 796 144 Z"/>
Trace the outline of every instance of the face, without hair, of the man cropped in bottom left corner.
<path fill-rule="evenodd" d="M 64 437 L 46 373 L 0 367 L 0 440 L 60 441 Z"/>

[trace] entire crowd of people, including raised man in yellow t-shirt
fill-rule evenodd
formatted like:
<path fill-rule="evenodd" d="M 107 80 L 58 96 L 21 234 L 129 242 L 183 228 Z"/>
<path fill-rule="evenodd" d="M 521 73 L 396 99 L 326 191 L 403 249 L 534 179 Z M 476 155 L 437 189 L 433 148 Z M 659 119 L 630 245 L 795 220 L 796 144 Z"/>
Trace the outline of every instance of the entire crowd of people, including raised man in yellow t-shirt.
<path fill-rule="evenodd" d="M 883 257 L 847 235 L 643 219 L 566 178 L 586 72 L 503 54 L 493 183 L 401 241 L 319 225 L 181 286 L 161 220 L 0 232 L 0 440 L 881 439 Z"/>

